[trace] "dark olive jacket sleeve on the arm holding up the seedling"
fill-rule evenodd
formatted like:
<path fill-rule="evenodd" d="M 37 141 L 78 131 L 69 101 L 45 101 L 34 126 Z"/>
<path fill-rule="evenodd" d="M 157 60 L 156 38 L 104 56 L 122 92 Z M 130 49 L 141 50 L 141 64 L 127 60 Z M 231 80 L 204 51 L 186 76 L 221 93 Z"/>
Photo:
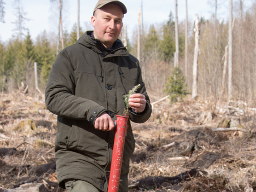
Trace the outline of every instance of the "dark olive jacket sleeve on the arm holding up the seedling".
<path fill-rule="evenodd" d="M 140 66 L 138 66 L 138 71 L 139 72 L 138 72 L 137 85 L 140 84 L 140 89 L 137 91 L 137 93 L 141 93 L 141 94 L 145 95 L 146 106 L 145 106 L 145 110 L 141 113 L 136 113 L 136 112 L 132 111 L 132 109 L 130 109 L 129 114 L 130 114 L 130 120 L 132 122 L 144 123 L 151 116 L 152 108 L 151 108 L 149 96 L 146 93 L 145 83 L 142 81 Z"/>

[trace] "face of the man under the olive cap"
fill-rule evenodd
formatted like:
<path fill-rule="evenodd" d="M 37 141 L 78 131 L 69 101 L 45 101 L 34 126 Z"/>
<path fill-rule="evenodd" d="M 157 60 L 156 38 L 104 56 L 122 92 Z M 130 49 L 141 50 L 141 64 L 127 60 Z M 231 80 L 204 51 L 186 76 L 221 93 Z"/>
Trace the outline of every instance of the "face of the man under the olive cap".
<path fill-rule="evenodd" d="M 112 48 L 122 30 L 123 12 L 120 6 L 107 4 L 97 9 L 91 18 L 94 27 L 93 35 L 106 48 Z"/>

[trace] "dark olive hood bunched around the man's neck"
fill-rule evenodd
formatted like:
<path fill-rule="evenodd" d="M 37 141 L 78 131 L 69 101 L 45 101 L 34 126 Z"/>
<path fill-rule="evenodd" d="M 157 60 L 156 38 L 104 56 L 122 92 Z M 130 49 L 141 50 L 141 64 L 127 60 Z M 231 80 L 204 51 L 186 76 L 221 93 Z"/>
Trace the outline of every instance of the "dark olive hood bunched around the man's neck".
<path fill-rule="evenodd" d="M 76 41 L 76 43 L 79 43 L 87 48 L 92 49 L 94 52 L 101 53 L 105 52 L 105 54 L 119 52 L 119 56 L 128 56 L 128 51 L 126 47 L 123 47 L 122 41 L 117 39 L 112 49 L 107 49 L 99 39 L 93 38 L 92 35 L 93 31 L 87 31 L 85 32 L 79 40 Z"/>

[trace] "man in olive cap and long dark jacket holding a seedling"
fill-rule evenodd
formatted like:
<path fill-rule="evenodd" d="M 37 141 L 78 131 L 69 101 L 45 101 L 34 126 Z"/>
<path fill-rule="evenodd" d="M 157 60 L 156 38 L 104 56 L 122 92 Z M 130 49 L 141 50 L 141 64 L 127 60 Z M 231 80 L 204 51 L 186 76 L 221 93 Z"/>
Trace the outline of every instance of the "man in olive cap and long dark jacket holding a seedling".
<path fill-rule="evenodd" d="M 128 54 L 118 36 L 126 7 L 118 0 L 99 0 L 87 31 L 62 50 L 49 74 L 46 105 L 58 115 L 55 157 L 59 186 L 68 192 L 106 192 L 115 137 L 114 121 L 122 115 L 122 96 L 129 117 L 143 123 L 151 115 L 139 61 Z M 131 124 L 125 138 L 119 192 L 128 192 L 129 158 L 135 146 Z"/>

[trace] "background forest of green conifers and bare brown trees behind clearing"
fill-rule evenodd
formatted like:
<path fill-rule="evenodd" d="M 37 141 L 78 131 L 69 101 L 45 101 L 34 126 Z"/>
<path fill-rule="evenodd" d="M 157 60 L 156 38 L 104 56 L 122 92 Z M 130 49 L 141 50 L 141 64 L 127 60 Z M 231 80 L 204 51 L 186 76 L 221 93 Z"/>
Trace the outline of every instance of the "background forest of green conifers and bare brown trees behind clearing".
<path fill-rule="evenodd" d="M 55 3 L 58 4 L 58 1 Z M 61 2 L 61 1 L 60 1 Z M 199 16 L 199 56 L 198 56 L 198 96 L 202 99 L 214 97 L 227 99 L 228 70 L 224 67 L 225 47 L 228 45 L 228 21 L 217 19 L 217 0 L 211 1 L 215 13 L 210 19 Z M 54 2 L 52 2 L 54 3 Z M 243 0 L 233 3 L 233 98 L 255 99 L 256 92 L 256 2 L 247 10 Z M 4 21 L 4 0 L 0 0 L 0 21 Z M 76 42 L 76 23 L 70 33 L 63 30 L 60 35 L 42 32 L 32 40 L 29 29 L 25 29 L 27 19 L 22 9 L 22 1 L 15 3 L 16 29 L 14 38 L 0 41 L 0 90 L 12 92 L 22 83 L 29 90 L 35 87 L 34 62 L 37 63 L 38 85 L 44 90 L 52 63 L 63 47 Z M 61 13 L 61 9 L 60 9 Z M 179 21 L 179 67 L 186 78 L 187 93 L 192 93 L 192 65 L 194 58 L 194 23 L 188 23 L 188 64 L 185 67 L 185 21 Z M 87 30 L 80 27 L 80 36 Z M 60 29 L 60 27 L 59 27 Z M 123 28 L 125 29 L 125 27 Z M 137 29 L 138 30 L 138 29 Z M 122 31 L 120 39 L 127 36 Z M 127 39 L 128 51 L 138 56 L 138 31 L 133 39 Z M 62 38 L 61 38 L 62 36 Z M 164 23 L 151 24 L 140 29 L 140 64 L 148 92 L 160 99 L 165 93 L 167 79 L 174 70 L 175 17 L 170 12 Z M 226 55 L 227 58 L 227 55 Z M 185 84 L 184 84 L 185 86 Z"/>

